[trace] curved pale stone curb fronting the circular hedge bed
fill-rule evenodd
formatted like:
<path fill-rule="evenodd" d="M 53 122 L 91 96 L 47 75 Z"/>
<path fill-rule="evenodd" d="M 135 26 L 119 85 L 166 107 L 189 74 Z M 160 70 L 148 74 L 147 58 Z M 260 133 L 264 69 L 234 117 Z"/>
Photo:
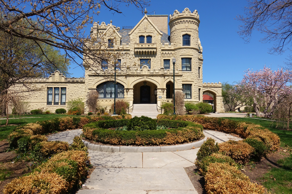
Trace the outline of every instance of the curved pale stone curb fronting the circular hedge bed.
<path fill-rule="evenodd" d="M 200 141 L 195 141 L 192 143 L 175 145 L 175 146 L 104 146 L 97 145 L 94 143 L 89 143 L 88 141 L 83 141 L 84 145 L 91 149 L 101 152 L 172 152 L 172 151 L 182 151 L 190 150 L 192 147 L 198 148 L 207 140 L 207 136 Z"/>

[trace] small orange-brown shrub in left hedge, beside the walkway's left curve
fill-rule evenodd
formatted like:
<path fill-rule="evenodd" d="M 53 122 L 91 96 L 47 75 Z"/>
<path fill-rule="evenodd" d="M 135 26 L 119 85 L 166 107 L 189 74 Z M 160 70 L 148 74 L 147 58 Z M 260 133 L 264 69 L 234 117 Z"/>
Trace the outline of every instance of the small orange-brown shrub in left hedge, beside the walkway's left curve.
<path fill-rule="evenodd" d="M 65 141 L 45 141 L 41 142 L 41 147 L 41 153 L 43 153 L 45 157 L 48 157 L 55 153 L 67 151 L 69 149 L 69 144 Z"/>

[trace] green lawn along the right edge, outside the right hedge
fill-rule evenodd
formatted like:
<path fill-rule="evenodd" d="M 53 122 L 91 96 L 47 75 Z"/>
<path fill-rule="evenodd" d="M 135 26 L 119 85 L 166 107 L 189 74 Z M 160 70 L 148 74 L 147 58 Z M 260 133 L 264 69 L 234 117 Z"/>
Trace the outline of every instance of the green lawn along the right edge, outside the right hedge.
<path fill-rule="evenodd" d="M 252 119 L 252 118 L 234 118 L 228 117 L 226 119 L 236 121 L 248 121 L 266 127 L 270 131 L 276 133 L 281 140 L 281 147 L 292 147 L 292 131 L 280 130 L 275 128 L 275 123 L 272 121 Z M 289 149 L 291 151 L 291 149 Z M 292 154 L 277 162 L 279 168 L 272 168 L 268 173 L 263 175 L 263 186 L 269 192 L 274 194 L 292 194 Z"/>

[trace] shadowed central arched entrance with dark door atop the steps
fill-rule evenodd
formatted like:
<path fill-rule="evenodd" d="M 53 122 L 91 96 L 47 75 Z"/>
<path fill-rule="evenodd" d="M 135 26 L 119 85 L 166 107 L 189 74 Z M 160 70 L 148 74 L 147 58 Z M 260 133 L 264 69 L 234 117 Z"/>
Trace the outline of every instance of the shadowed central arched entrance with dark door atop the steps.
<path fill-rule="evenodd" d="M 156 103 L 157 85 L 149 81 L 138 82 L 133 86 L 134 104 Z"/>

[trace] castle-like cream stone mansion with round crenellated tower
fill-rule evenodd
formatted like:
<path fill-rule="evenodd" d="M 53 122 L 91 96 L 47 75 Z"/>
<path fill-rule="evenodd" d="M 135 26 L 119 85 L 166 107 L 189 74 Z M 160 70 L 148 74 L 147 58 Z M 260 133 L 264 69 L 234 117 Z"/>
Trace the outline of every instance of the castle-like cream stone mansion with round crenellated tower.
<path fill-rule="evenodd" d="M 44 108 L 55 112 L 66 108 L 66 102 L 82 98 L 86 106 L 86 96 L 90 90 L 99 92 L 98 101 L 102 106 L 111 106 L 116 99 L 124 99 L 130 106 L 138 103 L 171 102 L 173 84 L 175 91 L 185 94 L 185 101 L 203 102 L 203 93 L 214 95 L 214 112 L 224 112 L 221 97 L 221 83 L 203 83 L 203 48 L 199 39 L 199 15 L 185 8 L 172 15 L 147 15 L 135 27 L 116 27 L 102 22 L 93 23 L 91 37 L 104 34 L 106 39 L 115 38 L 108 49 L 121 51 L 119 63 L 135 63 L 140 66 L 126 71 L 117 70 L 117 84 L 98 74 L 84 64 L 85 77 L 67 78 L 55 71 L 46 78 L 34 78 L 29 82 L 45 88 L 32 93 L 27 101 L 30 109 Z M 168 25 L 170 35 L 168 35 Z M 107 35 L 109 34 L 109 35 Z M 173 69 L 172 58 L 176 59 Z M 122 66 L 121 66 L 122 67 Z M 173 71 L 175 82 L 173 83 Z M 105 69 L 105 74 L 114 72 Z M 114 87 L 116 93 L 114 94 Z M 85 112 L 88 108 L 85 107 Z"/>

